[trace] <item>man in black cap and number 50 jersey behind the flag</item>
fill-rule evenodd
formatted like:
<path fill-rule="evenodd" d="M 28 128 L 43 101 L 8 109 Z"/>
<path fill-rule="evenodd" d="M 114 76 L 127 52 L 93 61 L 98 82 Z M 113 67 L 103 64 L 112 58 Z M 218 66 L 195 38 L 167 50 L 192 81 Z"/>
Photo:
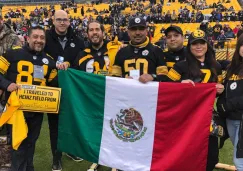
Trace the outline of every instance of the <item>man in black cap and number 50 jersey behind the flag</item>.
<path fill-rule="evenodd" d="M 162 50 L 147 37 L 146 21 L 135 17 L 129 20 L 129 45 L 118 51 L 112 75 L 138 79 L 142 83 L 163 81 L 168 73 Z"/>

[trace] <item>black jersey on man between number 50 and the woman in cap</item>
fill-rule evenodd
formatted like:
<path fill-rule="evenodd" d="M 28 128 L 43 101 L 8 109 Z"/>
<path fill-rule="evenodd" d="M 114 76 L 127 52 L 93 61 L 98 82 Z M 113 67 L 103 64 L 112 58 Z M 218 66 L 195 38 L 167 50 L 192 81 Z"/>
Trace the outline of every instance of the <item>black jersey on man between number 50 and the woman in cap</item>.
<path fill-rule="evenodd" d="M 172 51 L 164 51 L 165 54 L 165 62 L 168 69 L 172 68 L 175 63 L 178 63 L 180 61 L 186 60 L 186 48 L 183 47 L 181 50 L 177 52 Z"/>

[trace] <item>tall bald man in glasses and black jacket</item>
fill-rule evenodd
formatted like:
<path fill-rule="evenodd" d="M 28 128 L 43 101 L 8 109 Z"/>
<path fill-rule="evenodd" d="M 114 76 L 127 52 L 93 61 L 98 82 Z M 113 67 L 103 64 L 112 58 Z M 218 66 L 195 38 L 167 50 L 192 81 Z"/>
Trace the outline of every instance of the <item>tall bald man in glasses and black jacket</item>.
<path fill-rule="evenodd" d="M 55 12 L 53 24 L 54 26 L 46 35 L 45 52 L 54 58 L 59 69 L 67 69 L 73 64 L 78 53 L 84 49 L 84 43 L 74 34 L 70 27 L 68 14 L 65 11 L 58 10 Z M 61 171 L 62 153 L 57 151 L 58 115 L 48 114 L 48 123 L 53 155 L 52 170 Z M 68 156 L 74 161 L 82 161 L 78 157 Z"/>

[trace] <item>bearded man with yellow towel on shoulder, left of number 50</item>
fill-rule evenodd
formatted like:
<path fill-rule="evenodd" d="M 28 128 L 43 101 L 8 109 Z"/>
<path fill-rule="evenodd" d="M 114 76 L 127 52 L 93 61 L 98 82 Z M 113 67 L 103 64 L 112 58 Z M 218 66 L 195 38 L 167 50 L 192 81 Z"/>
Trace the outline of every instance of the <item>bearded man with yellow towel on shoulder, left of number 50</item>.
<path fill-rule="evenodd" d="M 88 23 L 87 34 L 90 45 L 78 54 L 74 68 L 98 75 L 110 75 L 114 57 L 121 43 L 104 40 L 105 28 L 98 21 Z M 98 166 L 93 163 L 89 171 L 96 170 Z M 112 169 L 112 171 L 116 171 L 116 169 Z"/>

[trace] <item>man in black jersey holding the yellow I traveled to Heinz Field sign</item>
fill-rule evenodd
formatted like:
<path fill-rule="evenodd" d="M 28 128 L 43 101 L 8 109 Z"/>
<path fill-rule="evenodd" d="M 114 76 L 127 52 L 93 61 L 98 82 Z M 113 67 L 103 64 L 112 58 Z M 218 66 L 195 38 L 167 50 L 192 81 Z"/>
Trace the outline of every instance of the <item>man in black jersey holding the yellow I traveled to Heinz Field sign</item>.
<path fill-rule="evenodd" d="M 3 90 L 15 91 L 19 88 L 18 84 L 56 84 L 56 63 L 43 52 L 46 43 L 45 30 L 36 26 L 29 29 L 28 35 L 26 46 L 15 47 L 0 56 L 0 82 Z M 40 134 L 43 114 L 24 112 L 24 117 L 28 135 L 18 150 L 12 152 L 11 171 L 34 171 L 35 143 Z"/>

